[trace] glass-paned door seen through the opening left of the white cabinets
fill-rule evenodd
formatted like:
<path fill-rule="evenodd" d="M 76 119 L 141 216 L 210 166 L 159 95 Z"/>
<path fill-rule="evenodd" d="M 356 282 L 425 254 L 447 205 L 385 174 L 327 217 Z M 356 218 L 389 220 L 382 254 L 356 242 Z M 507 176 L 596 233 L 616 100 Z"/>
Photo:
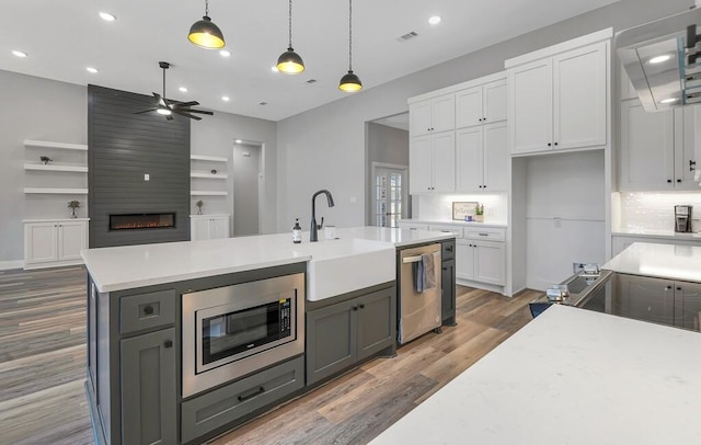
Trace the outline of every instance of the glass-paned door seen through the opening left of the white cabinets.
<path fill-rule="evenodd" d="M 377 227 L 399 227 L 407 216 L 407 169 L 372 162 L 375 183 L 372 220 Z"/>

